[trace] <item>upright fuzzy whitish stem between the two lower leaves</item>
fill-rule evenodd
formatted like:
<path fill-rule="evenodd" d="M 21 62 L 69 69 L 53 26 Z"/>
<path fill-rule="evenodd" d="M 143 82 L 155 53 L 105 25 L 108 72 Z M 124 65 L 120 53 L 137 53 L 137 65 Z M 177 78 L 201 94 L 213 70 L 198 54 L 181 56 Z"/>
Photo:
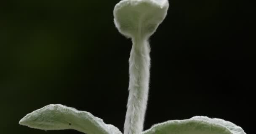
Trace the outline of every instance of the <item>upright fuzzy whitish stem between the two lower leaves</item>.
<path fill-rule="evenodd" d="M 149 90 L 150 47 L 147 39 L 135 37 L 132 41 L 124 134 L 141 134 Z"/>

